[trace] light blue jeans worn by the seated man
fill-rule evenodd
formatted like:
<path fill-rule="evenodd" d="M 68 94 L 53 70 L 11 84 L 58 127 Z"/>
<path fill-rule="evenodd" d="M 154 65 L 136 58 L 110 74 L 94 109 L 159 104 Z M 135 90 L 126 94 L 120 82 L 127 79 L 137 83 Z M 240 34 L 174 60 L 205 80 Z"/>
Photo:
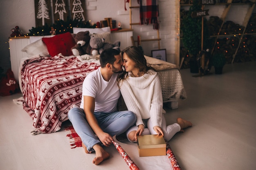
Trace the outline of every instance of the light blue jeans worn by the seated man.
<path fill-rule="evenodd" d="M 90 125 L 85 120 L 83 109 L 74 107 L 68 112 L 68 118 L 76 131 L 81 137 L 87 150 L 93 151 L 95 144 L 101 143 L 99 138 L 92 131 Z M 124 133 L 130 126 L 135 124 L 136 116 L 132 111 L 117 111 L 113 113 L 94 112 L 101 129 L 111 136 Z"/>

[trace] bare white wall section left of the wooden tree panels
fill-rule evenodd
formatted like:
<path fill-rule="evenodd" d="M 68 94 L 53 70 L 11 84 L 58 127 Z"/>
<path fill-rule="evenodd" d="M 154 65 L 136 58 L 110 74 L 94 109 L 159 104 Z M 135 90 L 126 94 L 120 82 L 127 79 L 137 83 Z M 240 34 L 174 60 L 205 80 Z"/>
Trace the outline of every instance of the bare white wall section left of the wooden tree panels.
<path fill-rule="evenodd" d="M 8 49 L 11 29 L 19 26 L 22 32 L 28 33 L 35 26 L 34 0 L 1 0 L 0 17 L 0 67 L 6 71 L 11 68 Z"/>

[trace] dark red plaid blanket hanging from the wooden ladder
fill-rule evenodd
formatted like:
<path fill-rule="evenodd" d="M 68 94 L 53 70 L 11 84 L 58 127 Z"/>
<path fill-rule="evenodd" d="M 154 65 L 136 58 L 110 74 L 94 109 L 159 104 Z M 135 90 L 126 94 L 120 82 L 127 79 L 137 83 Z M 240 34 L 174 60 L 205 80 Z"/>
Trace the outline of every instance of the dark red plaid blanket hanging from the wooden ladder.
<path fill-rule="evenodd" d="M 159 28 L 159 9 L 157 0 L 139 0 L 140 23 L 153 24 L 153 28 Z"/>

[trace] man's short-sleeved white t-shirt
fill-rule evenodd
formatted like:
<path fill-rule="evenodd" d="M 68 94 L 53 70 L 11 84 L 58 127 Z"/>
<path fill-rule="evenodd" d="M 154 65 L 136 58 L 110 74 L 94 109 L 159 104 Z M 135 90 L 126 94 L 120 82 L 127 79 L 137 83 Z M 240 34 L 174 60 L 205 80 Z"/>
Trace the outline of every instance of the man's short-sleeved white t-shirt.
<path fill-rule="evenodd" d="M 83 96 L 91 96 L 95 98 L 94 112 L 116 111 L 117 100 L 121 95 L 117 85 L 117 76 L 118 74 L 114 73 L 109 81 L 105 81 L 101 75 L 101 67 L 88 74 L 83 81 L 80 108 L 83 109 Z"/>

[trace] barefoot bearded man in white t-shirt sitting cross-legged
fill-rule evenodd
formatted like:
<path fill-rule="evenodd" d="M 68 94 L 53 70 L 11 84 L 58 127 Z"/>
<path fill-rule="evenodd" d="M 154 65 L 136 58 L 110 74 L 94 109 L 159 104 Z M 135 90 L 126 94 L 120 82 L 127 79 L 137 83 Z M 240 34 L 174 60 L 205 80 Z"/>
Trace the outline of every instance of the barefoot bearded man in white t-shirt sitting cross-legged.
<path fill-rule="evenodd" d="M 95 151 L 92 163 L 99 165 L 110 156 L 102 145 L 110 146 L 112 136 L 124 133 L 136 122 L 131 111 L 116 111 L 120 89 L 118 73 L 123 61 L 119 51 L 106 49 L 100 55 L 101 67 L 85 77 L 80 108 L 68 112 L 76 133 L 82 139 L 85 153 Z"/>

